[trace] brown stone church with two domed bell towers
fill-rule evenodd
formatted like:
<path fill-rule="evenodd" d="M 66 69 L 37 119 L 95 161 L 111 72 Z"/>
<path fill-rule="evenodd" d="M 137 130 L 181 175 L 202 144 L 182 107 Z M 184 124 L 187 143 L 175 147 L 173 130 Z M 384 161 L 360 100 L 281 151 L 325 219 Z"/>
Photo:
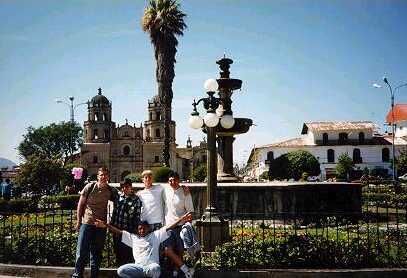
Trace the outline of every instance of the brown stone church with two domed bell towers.
<path fill-rule="evenodd" d="M 88 102 L 88 119 L 84 122 L 84 144 L 81 147 L 81 165 L 90 177 L 97 169 L 107 166 L 111 182 L 120 182 L 130 173 L 162 166 L 164 120 L 158 96 L 148 100 L 148 119 L 144 126 L 131 125 L 126 119 L 122 126 L 112 121 L 112 103 L 98 89 Z M 171 119 L 171 115 L 170 115 Z M 170 121 L 170 165 L 182 179 L 190 179 L 193 168 L 206 161 L 206 143 L 193 147 L 188 138 L 186 147 L 177 148 L 175 122 Z"/>

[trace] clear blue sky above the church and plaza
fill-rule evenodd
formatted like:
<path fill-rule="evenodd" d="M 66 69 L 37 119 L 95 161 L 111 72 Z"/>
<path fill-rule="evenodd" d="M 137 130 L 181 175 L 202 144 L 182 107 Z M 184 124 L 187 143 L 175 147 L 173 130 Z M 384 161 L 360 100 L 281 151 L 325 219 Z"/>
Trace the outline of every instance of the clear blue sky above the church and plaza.
<path fill-rule="evenodd" d="M 0 1 L 0 157 L 18 162 L 28 126 L 69 119 L 55 98 L 87 101 L 102 87 L 113 120 L 147 118 L 157 93 L 155 60 L 140 27 L 144 0 Z M 256 145 L 299 136 L 303 122 L 370 120 L 383 127 L 390 105 L 386 75 L 407 82 L 407 1 L 181 1 L 188 29 L 179 38 L 173 84 L 177 143 L 191 135 L 192 100 L 218 77 L 215 61 L 234 60 L 235 117 L 252 118 L 235 141 L 235 161 Z M 396 93 L 407 102 L 407 89 Z M 76 109 L 83 123 L 86 107 Z"/>

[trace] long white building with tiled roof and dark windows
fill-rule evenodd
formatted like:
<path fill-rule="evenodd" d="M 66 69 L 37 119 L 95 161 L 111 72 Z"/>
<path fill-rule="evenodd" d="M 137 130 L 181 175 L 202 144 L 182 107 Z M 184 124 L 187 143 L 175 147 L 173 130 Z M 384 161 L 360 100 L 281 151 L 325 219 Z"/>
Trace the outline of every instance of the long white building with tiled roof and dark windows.
<path fill-rule="evenodd" d="M 395 134 L 397 156 L 406 148 L 407 139 L 404 133 Z M 247 162 L 248 175 L 258 179 L 269 170 L 273 159 L 295 150 L 309 151 L 318 159 L 322 180 L 335 175 L 342 153 L 353 159 L 357 169 L 379 168 L 391 173 L 391 142 L 391 135 L 377 134 L 376 125 L 369 121 L 304 123 L 299 138 L 253 148 Z"/>

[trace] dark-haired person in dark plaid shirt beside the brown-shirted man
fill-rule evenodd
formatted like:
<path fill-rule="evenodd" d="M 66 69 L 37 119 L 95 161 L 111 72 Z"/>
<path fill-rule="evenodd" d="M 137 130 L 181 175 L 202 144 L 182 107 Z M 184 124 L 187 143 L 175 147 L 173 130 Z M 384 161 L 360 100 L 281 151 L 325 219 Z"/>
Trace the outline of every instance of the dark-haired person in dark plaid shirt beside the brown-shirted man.
<path fill-rule="evenodd" d="M 134 194 L 130 179 L 125 179 L 120 183 L 120 189 L 119 197 L 114 202 L 110 224 L 118 229 L 134 233 L 140 222 L 141 201 Z M 118 266 L 134 262 L 132 249 L 121 242 L 120 236 L 113 236 L 113 249 Z"/>

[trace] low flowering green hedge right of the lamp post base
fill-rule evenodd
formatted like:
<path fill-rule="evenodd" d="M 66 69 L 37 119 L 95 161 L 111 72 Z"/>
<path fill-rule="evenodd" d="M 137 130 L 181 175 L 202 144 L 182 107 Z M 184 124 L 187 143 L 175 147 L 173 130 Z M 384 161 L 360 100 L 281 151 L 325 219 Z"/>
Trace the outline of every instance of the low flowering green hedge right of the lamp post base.
<path fill-rule="evenodd" d="M 400 266 L 394 253 L 382 252 L 384 246 L 374 244 L 364 239 L 334 240 L 313 235 L 291 235 L 281 241 L 269 238 L 242 242 L 236 239 L 217 246 L 215 252 L 204 256 L 203 265 L 217 269 Z M 404 242 L 402 245 L 407 247 Z M 378 250 L 380 254 L 377 254 Z M 402 253 L 402 256 L 406 255 L 406 251 Z"/>

